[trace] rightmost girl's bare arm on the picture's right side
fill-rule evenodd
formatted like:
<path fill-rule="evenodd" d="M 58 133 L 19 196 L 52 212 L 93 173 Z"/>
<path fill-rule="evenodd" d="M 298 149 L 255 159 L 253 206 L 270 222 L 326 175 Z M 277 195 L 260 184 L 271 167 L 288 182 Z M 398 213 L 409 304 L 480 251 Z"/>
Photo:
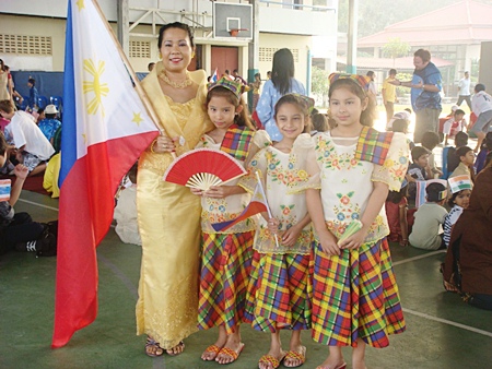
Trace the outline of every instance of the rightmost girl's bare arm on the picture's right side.
<path fill-rule="evenodd" d="M 371 193 L 370 200 L 367 202 L 367 207 L 365 209 L 364 214 L 361 218 L 362 228 L 340 242 L 339 246 L 342 249 L 356 249 L 364 242 L 364 239 L 367 236 L 368 228 L 373 224 L 377 214 L 379 214 L 380 209 L 383 207 L 383 204 L 388 197 L 388 184 L 377 181 L 373 182 L 373 192 Z"/>

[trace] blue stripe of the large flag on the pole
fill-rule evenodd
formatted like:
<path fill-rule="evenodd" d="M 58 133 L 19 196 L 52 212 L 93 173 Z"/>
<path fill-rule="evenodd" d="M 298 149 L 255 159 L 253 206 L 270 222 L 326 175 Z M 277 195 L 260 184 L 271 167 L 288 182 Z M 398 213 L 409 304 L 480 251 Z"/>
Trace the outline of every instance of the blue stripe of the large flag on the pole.
<path fill-rule="evenodd" d="M 63 73 L 63 129 L 61 130 L 61 168 L 58 186 L 77 160 L 75 78 L 73 68 L 73 28 L 71 1 L 68 2 Z"/>

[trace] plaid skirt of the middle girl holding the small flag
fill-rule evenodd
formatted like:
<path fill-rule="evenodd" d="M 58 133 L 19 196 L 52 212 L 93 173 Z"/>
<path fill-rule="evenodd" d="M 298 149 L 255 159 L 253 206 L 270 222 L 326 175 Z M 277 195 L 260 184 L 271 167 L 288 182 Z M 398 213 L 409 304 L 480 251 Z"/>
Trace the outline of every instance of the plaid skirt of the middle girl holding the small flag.
<path fill-rule="evenodd" d="M 254 251 L 246 318 L 258 331 L 308 330 L 309 255 Z"/>

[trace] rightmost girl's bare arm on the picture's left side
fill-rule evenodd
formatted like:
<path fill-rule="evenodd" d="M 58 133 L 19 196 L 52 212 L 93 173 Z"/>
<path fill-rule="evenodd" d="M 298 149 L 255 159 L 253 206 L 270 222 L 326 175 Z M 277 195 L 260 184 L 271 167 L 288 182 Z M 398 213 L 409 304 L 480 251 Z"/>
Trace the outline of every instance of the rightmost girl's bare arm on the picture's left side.
<path fill-rule="evenodd" d="M 318 234 L 323 251 L 329 255 L 339 255 L 340 248 L 337 245 L 337 238 L 326 227 L 320 191 L 315 189 L 306 190 L 306 202 L 307 211 L 316 233 Z"/>

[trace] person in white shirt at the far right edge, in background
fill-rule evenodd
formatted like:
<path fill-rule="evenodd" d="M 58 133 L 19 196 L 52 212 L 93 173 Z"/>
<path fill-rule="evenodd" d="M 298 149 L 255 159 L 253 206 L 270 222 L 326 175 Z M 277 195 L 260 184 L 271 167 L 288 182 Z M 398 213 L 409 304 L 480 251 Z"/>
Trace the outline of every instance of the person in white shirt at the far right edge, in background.
<path fill-rule="evenodd" d="M 483 139 L 492 124 L 492 97 L 485 92 L 485 85 L 482 83 L 477 83 L 475 86 L 471 108 L 477 116 L 477 121 L 473 127 L 471 127 L 470 131 L 477 134 L 477 147 L 475 147 L 473 151 L 478 153 Z"/>

